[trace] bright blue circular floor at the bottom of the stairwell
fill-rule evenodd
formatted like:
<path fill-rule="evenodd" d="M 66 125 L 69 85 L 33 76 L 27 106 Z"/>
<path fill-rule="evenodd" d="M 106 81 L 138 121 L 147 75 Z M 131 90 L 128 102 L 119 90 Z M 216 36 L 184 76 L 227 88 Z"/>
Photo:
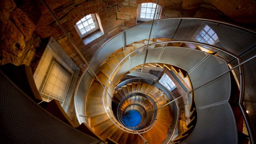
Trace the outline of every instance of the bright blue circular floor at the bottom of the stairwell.
<path fill-rule="evenodd" d="M 141 116 L 138 111 L 129 110 L 126 112 L 125 115 L 123 115 L 123 122 L 128 127 L 136 127 L 137 125 L 140 124 L 140 121 L 141 121 Z"/>

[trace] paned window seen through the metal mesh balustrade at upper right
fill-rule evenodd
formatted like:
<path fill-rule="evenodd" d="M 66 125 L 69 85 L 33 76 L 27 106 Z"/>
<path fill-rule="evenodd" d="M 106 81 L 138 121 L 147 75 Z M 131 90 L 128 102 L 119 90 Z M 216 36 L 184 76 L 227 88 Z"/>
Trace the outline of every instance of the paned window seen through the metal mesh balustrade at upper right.
<path fill-rule="evenodd" d="M 199 42 L 204 42 L 212 45 L 213 43 L 217 42 L 218 36 L 208 25 L 205 25 L 204 28 L 197 35 L 196 39 Z"/>

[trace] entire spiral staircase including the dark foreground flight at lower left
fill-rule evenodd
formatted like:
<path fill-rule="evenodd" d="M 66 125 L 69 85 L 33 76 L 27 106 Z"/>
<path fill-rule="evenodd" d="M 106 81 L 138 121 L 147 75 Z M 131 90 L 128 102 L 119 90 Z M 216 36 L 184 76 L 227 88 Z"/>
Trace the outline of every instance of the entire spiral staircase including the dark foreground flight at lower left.
<path fill-rule="evenodd" d="M 211 45 L 197 40 L 206 25 L 218 36 Z M 59 109 L 62 115 L 56 114 L 54 106 L 61 107 L 56 101 L 38 101 L 38 91 L 31 88 L 35 87 L 33 80 L 17 77 L 15 68 L 2 66 L 0 92 L 8 97 L 0 99 L 1 143 L 22 139 L 38 143 L 248 144 L 241 135 L 244 122 L 254 144 L 254 113 L 246 112 L 254 106 L 244 99 L 255 92 L 248 86 L 255 77 L 251 73 L 256 69 L 255 40 L 253 31 L 206 19 L 159 19 L 129 28 L 100 47 L 78 81 L 74 104 L 79 126 L 65 119 L 63 109 Z M 141 77 L 146 67 L 156 66 L 188 78 L 191 90 L 174 97 L 158 81 Z M 133 71 L 140 76 L 127 79 Z M 17 86 L 19 78 L 24 84 Z M 179 132 L 182 105 L 178 100 L 188 96 L 190 123 L 186 131 Z M 140 113 L 138 125 L 124 122 L 131 110 Z"/>

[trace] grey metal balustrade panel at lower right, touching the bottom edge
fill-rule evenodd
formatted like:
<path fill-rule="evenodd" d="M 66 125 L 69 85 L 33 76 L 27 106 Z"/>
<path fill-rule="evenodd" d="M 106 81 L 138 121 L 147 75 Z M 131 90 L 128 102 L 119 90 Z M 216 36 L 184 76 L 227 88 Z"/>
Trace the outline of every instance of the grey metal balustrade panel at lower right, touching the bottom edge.
<path fill-rule="evenodd" d="M 237 127 L 228 103 L 197 109 L 197 125 L 185 144 L 237 144 Z"/>

